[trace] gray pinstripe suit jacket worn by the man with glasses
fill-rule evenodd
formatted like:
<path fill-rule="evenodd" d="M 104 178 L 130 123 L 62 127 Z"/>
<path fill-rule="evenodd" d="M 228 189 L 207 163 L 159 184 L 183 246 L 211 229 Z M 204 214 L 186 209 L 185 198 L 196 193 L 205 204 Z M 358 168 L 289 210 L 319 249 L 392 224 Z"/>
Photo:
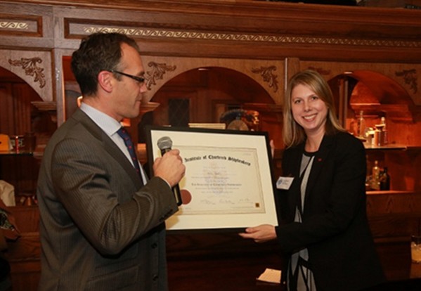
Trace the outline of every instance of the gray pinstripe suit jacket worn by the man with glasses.
<path fill-rule="evenodd" d="M 39 172 L 39 290 L 167 290 L 160 178 L 145 186 L 117 145 L 77 110 L 51 137 Z"/>

